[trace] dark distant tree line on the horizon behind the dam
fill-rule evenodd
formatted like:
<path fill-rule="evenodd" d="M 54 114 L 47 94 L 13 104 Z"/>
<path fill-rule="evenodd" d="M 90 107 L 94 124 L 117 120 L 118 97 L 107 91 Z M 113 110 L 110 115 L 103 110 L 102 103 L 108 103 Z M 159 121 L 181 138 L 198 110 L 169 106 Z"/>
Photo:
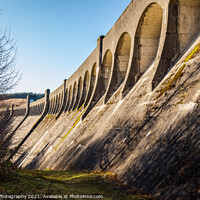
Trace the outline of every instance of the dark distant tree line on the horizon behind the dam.
<path fill-rule="evenodd" d="M 34 101 L 44 97 L 44 94 L 42 93 L 21 92 L 21 93 L 6 94 L 6 99 L 26 99 L 27 95 L 30 95 L 30 99 Z"/>

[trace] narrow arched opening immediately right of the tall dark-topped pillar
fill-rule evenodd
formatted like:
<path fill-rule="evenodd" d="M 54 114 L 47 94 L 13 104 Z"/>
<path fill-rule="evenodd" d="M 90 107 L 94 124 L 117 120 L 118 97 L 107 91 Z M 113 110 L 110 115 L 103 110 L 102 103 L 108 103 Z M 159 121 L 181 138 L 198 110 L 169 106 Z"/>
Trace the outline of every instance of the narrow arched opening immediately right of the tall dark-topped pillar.
<path fill-rule="evenodd" d="M 101 84 L 100 84 L 100 91 L 101 96 L 104 95 L 104 93 L 107 90 L 109 80 L 110 80 L 110 74 L 111 74 L 111 68 L 112 68 L 112 53 L 110 50 L 107 50 L 102 63 L 101 68 Z"/>

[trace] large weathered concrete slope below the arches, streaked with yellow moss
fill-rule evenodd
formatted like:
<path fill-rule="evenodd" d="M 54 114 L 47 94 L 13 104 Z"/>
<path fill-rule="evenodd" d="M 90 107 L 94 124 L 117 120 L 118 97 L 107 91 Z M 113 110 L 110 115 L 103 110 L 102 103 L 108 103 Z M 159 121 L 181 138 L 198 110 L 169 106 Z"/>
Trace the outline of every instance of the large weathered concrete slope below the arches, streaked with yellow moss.
<path fill-rule="evenodd" d="M 146 92 L 143 78 L 123 101 L 115 103 L 113 96 L 104 106 L 99 102 L 83 121 L 79 121 L 81 110 L 57 120 L 47 116 L 20 149 L 21 156 L 16 155 L 17 164 L 111 170 L 120 180 L 160 198 L 197 198 L 200 69 L 195 70 L 200 54 L 184 60 L 154 92 Z"/>

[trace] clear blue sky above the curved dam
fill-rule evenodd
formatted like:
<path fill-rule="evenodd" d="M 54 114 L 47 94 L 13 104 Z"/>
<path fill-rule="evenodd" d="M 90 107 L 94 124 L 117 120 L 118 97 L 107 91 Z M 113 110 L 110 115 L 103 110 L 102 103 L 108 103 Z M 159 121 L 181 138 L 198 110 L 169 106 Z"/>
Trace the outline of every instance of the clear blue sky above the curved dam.
<path fill-rule="evenodd" d="M 131 0 L 0 0 L 0 27 L 17 41 L 22 79 L 12 92 L 51 91 L 95 49 Z"/>

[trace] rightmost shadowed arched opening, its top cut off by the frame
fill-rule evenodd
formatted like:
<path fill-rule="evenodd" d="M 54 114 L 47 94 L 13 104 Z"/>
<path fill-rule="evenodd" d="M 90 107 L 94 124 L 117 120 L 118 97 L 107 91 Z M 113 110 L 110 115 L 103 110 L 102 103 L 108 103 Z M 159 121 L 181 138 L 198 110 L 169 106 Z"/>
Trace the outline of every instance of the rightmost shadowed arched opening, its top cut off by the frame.
<path fill-rule="evenodd" d="M 171 0 L 161 60 L 152 82 L 154 89 L 200 32 L 200 1 Z"/>

